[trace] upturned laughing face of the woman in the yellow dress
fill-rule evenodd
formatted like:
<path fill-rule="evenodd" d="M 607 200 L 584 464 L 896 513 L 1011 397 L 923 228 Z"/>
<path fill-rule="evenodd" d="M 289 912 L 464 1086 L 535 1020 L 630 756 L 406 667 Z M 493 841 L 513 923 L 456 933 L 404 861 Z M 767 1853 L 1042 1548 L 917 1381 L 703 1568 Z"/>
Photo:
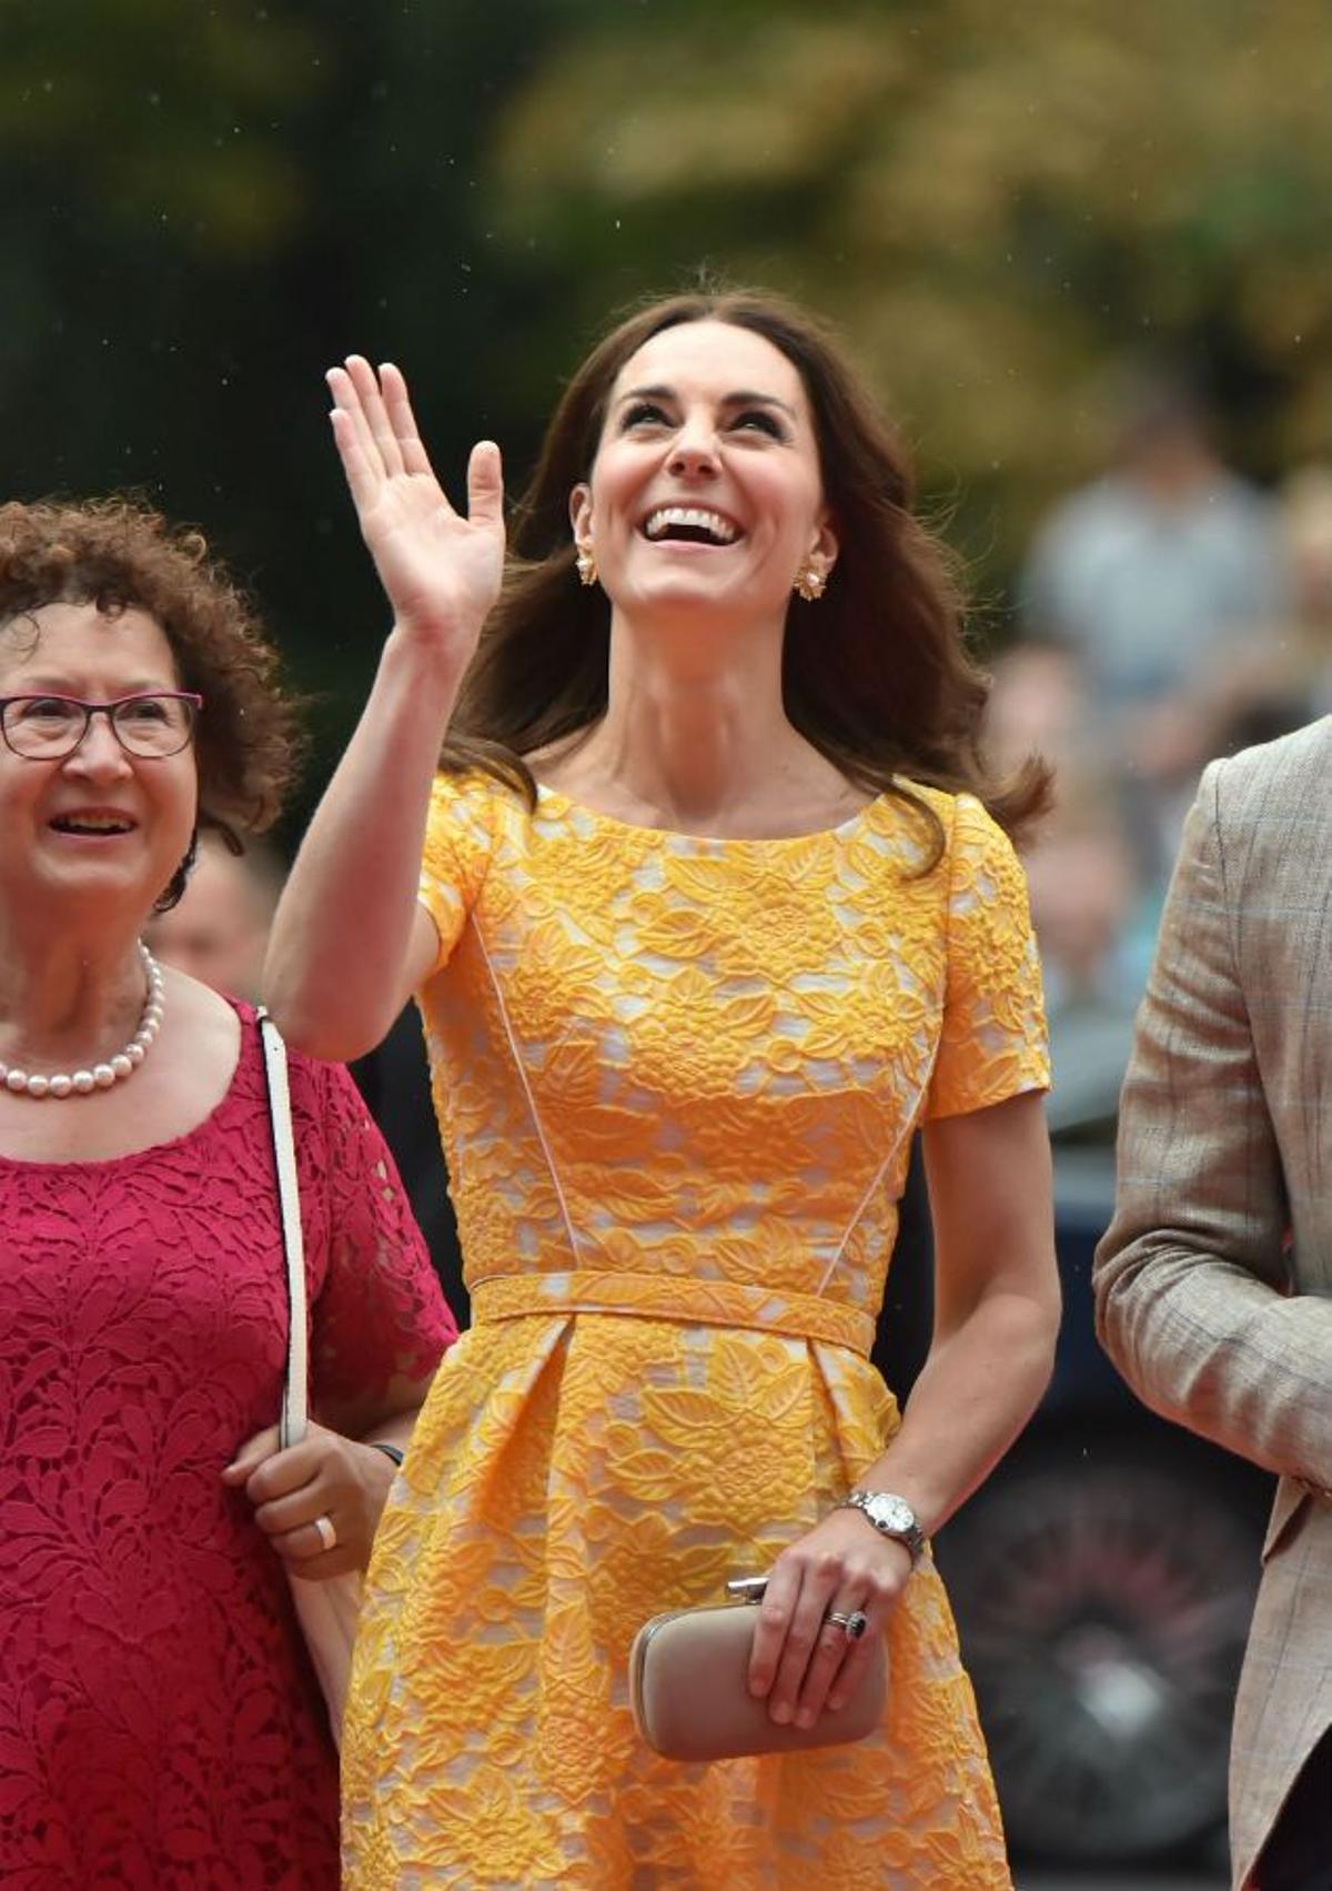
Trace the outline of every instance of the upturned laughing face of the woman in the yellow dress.
<path fill-rule="evenodd" d="M 801 565 L 837 558 L 795 365 L 727 321 L 654 335 L 616 376 L 571 516 L 622 613 L 784 622 Z"/>

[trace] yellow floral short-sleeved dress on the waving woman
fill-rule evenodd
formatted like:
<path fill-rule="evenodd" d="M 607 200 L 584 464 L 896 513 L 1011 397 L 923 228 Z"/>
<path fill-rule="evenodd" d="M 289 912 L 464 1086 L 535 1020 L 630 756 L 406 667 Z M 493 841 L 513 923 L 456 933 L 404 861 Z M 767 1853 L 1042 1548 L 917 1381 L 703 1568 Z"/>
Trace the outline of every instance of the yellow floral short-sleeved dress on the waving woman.
<path fill-rule="evenodd" d="M 346 1882 L 1009 1885 L 943 1585 L 879 1734 L 695 1766 L 635 1736 L 661 1609 L 765 1570 L 897 1426 L 869 1365 L 909 1135 L 1047 1084 L 1013 849 L 882 796 L 795 840 L 440 777 L 419 995 L 472 1329 L 397 1479 L 344 1734 Z"/>

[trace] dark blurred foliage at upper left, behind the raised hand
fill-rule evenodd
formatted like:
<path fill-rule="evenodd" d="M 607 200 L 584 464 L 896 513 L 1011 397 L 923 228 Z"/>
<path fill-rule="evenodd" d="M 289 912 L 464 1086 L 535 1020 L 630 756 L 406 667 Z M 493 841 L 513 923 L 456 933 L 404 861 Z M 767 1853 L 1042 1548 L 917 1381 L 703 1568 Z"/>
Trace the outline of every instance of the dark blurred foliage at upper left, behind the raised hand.
<path fill-rule="evenodd" d="M 132 484 L 198 520 L 257 588 L 325 751 L 384 609 L 323 371 L 350 348 L 406 361 L 457 473 L 531 318 L 476 149 L 555 0 L 506 11 L 512 42 L 431 0 L 0 0 L 0 486 Z"/>

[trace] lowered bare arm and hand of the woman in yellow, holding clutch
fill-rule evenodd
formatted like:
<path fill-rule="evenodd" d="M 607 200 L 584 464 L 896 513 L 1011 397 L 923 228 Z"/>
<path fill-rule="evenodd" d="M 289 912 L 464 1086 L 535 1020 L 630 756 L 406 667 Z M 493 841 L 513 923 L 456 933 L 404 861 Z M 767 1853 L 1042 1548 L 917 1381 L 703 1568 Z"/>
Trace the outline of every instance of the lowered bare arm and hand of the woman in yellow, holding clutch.
<path fill-rule="evenodd" d="M 888 1450 L 862 1486 L 907 1498 L 933 1532 L 986 1477 L 1032 1416 L 1060 1316 L 1050 1150 L 1039 1095 L 926 1127 L 935 1227 L 935 1331 Z M 809 1725 L 860 1679 L 871 1636 L 911 1575 L 901 1543 L 837 1509 L 778 1556 L 754 1636 L 750 1685 L 773 1719 Z M 850 1651 L 826 1611 L 863 1609 Z"/>

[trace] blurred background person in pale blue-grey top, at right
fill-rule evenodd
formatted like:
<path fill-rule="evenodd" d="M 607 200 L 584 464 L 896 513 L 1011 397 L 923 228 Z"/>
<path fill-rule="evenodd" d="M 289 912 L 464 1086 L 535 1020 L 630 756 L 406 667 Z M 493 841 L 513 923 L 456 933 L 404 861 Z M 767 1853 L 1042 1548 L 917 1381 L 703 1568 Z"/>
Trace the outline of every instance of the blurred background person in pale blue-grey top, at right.
<path fill-rule="evenodd" d="M 1289 590 L 1275 511 L 1222 463 L 1185 378 L 1139 374 L 1120 399 L 1115 465 L 1041 528 L 1020 603 L 1028 635 L 1077 654 L 1143 877 L 1164 883 Z"/>

